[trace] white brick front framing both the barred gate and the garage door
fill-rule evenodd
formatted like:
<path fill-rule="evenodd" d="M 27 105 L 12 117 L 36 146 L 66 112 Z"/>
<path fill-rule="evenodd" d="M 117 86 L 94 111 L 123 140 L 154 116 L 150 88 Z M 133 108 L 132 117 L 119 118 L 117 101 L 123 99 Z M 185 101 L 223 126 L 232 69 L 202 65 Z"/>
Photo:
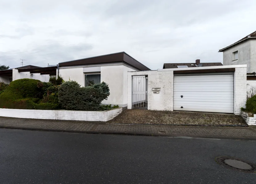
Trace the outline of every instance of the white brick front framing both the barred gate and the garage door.
<path fill-rule="evenodd" d="M 197 68 L 171 68 L 158 69 L 157 71 L 128 72 L 128 109 L 132 109 L 132 76 L 148 76 L 148 109 L 173 111 L 174 75 L 173 71 L 205 70 L 235 68 L 234 77 L 234 114 L 240 114 L 240 108 L 246 103 L 246 65 L 197 67 Z M 191 72 L 193 73 L 193 72 Z M 221 73 L 221 72 L 220 72 Z M 214 72 L 212 73 L 214 74 Z M 189 75 L 189 74 L 182 74 Z M 204 75 L 201 73 L 201 75 Z M 214 81 L 214 79 L 213 79 Z M 159 93 L 153 93 L 152 88 L 160 88 Z M 204 89 L 208 89 L 207 86 Z M 220 106 L 221 109 L 221 106 Z M 204 111 L 204 110 L 195 110 Z M 225 112 L 224 112 L 225 113 Z"/>

